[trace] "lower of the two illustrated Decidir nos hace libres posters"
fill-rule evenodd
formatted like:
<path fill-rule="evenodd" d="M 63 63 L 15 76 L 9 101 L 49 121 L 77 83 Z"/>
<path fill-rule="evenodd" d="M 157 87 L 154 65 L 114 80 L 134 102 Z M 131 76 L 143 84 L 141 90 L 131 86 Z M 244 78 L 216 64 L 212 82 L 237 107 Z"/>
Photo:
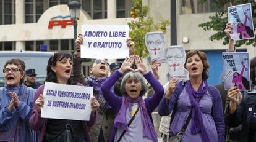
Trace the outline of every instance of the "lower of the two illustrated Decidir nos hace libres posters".
<path fill-rule="evenodd" d="M 250 90 L 250 69 L 248 53 L 223 53 L 225 90 L 236 86 L 240 90 Z"/>

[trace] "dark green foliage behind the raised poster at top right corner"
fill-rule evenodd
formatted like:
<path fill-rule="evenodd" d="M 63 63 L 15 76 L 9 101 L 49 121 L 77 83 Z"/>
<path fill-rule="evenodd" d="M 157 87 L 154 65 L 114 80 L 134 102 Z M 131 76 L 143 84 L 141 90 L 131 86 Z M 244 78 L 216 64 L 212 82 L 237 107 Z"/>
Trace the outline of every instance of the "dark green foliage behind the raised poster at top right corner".
<path fill-rule="evenodd" d="M 205 2 L 207 0 L 200 0 L 200 2 Z M 246 4 L 249 3 L 250 1 L 248 0 L 237 0 L 237 1 L 232 1 L 232 0 L 214 0 L 215 4 L 213 7 L 219 8 L 221 6 L 224 6 L 225 4 L 232 3 L 233 6 L 239 5 L 239 4 Z M 250 2 L 252 4 L 252 18 L 254 21 L 254 28 L 256 28 L 256 2 Z M 226 23 L 228 23 L 228 9 L 225 9 L 221 12 L 216 12 L 215 15 L 209 17 L 210 21 L 206 23 L 200 23 L 198 26 L 202 27 L 203 30 L 208 31 L 208 30 L 214 30 L 216 31 L 215 34 L 211 35 L 209 37 L 210 41 L 215 41 L 215 40 L 221 40 L 224 39 L 223 45 L 228 44 L 228 37 L 224 33 L 224 29 L 226 26 Z M 239 40 L 236 41 L 235 47 L 241 47 L 241 45 L 252 45 L 253 47 L 256 47 L 256 39 L 247 39 L 247 40 Z"/>

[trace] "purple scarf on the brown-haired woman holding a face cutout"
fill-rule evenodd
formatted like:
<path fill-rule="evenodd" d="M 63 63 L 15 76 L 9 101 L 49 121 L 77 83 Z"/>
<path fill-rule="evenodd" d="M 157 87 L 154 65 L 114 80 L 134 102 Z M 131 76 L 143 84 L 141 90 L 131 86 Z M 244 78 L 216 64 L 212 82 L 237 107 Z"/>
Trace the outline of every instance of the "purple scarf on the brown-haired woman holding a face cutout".
<path fill-rule="evenodd" d="M 203 87 L 203 84 L 205 84 L 205 87 Z M 208 138 L 208 135 L 205 132 L 205 127 L 203 126 L 202 112 L 199 108 L 199 101 L 208 90 L 207 81 L 204 79 L 197 91 L 194 90 L 190 81 L 186 81 L 186 86 L 187 92 L 189 93 L 189 100 L 192 105 L 191 132 L 194 134 L 201 132 L 203 141 L 208 142 L 210 141 L 210 139 Z"/>

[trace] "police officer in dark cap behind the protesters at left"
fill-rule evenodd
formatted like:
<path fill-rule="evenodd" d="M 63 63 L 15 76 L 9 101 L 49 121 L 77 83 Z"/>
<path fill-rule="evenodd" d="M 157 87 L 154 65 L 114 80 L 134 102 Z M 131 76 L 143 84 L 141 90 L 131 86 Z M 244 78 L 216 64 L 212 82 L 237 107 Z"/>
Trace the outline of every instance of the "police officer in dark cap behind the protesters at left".
<path fill-rule="evenodd" d="M 40 83 L 36 82 L 36 73 L 35 73 L 35 69 L 27 69 L 26 70 L 26 74 L 25 74 L 25 85 L 27 87 L 32 87 L 33 89 L 37 89 L 38 87 L 40 87 Z"/>

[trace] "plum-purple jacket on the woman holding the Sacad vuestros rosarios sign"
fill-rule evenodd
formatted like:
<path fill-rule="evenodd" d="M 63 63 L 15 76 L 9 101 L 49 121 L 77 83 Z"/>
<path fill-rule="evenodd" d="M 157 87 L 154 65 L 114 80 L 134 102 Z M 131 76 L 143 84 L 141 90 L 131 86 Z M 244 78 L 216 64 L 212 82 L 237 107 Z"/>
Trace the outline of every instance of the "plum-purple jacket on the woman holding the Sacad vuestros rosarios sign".
<path fill-rule="evenodd" d="M 79 84 L 82 85 L 82 84 Z M 29 120 L 29 124 L 30 127 L 33 130 L 40 130 L 40 134 L 39 134 L 39 138 L 38 141 L 41 142 L 43 141 L 43 136 L 45 135 L 45 131 L 46 131 L 46 125 L 47 125 L 47 119 L 46 118 L 41 118 L 41 114 L 38 113 L 36 106 L 35 106 L 35 101 L 36 99 L 39 97 L 40 94 L 43 94 L 43 89 L 44 89 L 45 85 L 41 85 L 38 89 L 36 89 L 35 92 L 35 97 L 33 100 L 33 111 L 32 111 L 32 116 L 30 117 Z M 90 136 L 89 136 L 89 131 L 88 131 L 88 127 L 91 127 L 96 120 L 96 114 L 91 114 L 90 116 L 90 120 L 89 121 L 83 121 L 83 130 L 85 133 L 85 138 L 87 142 L 92 141 Z"/>

